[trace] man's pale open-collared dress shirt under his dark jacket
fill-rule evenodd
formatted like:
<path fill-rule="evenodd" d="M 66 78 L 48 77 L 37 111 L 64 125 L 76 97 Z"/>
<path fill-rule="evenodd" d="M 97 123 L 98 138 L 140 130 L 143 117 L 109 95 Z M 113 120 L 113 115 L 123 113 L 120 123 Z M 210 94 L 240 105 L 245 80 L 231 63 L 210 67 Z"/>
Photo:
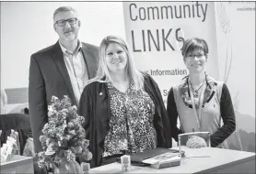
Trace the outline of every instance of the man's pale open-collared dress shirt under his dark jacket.
<path fill-rule="evenodd" d="M 78 41 L 78 47 L 74 53 L 65 49 L 60 41 L 59 44 L 64 53 L 65 66 L 78 104 L 85 84 L 88 81 L 87 65 L 81 50 L 82 43 Z"/>

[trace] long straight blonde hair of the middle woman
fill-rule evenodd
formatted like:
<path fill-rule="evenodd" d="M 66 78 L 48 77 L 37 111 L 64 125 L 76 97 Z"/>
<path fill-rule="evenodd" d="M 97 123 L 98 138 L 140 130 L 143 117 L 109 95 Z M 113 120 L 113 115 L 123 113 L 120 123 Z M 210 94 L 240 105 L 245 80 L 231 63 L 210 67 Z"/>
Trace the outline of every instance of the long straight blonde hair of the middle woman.
<path fill-rule="evenodd" d="M 117 43 L 124 49 L 127 55 L 126 72 L 130 81 L 134 82 L 134 90 L 143 89 L 144 86 L 144 74 L 135 69 L 134 60 L 127 43 L 120 37 L 108 36 L 103 38 L 99 46 L 99 67 L 95 78 L 89 80 L 87 84 L 91 82 L 112 82 L 110 70 L 106 63 L 106 49 L 111 43 Z"/>

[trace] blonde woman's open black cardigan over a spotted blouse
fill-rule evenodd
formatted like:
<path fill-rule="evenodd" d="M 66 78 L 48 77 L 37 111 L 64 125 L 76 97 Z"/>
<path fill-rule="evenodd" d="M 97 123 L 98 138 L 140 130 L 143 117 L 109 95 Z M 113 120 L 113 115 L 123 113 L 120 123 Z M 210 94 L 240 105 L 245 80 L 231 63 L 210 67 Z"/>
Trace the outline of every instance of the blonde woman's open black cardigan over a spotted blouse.
<path fill-rule="evenodd" d="M 171 147 L 169 118 L 157 83 L 146 74 L 144 87 L 156 106 L 154 123 L 157 147 Z M 91 168 L 99 167 L 104 151 L 104 139 L 110 130 L 109 122 L 112 116 L 106 83 L 92 82 L 85 87 L 80 98 L 78 114 L 85 117 L 86 138 L 89 139 L 89 150 L 93 154 Z"/>

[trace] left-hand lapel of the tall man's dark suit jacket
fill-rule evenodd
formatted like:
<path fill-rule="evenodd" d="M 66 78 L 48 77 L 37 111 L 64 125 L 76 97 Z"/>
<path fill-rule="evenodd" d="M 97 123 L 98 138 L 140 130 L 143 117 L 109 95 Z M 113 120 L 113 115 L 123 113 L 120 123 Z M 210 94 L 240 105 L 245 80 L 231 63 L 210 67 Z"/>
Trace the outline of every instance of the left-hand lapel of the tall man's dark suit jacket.
<path fill-rule="evenodd" d="M 62 52 L 62 49 L 59 45 L 59 42 L 57 42 L 54 45 L 54 54 L 53 54 L 53 60 L 55 60 L 55 63 L 59 69 L 59 71 L 62 73 L 63 77 L 64 77 L 64 82 L 66 83 L 66 86 L 68 88 L 68 90 L 70 91 L 70 93 L 72 93 L 72 96 L 69 96 L 70 99 L 76 103 L 76 98 L 75 98 L 75 93 L 73 91 L 73 87 L 70 81 L 70 77 L 68 74 L 68 71 L 66 69 L 65 63 L 64 63 L 64 55 Z M 77 103 L 76 103 L 77 105 Z"/>

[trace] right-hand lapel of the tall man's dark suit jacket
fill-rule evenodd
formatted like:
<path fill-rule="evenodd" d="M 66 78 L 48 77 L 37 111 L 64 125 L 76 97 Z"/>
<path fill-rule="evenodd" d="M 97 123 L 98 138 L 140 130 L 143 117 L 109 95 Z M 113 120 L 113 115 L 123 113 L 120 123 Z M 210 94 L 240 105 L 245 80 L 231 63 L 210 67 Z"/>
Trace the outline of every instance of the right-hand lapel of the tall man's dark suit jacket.
<path fill-rule="evenodd" d="M 96 60 L 93 57 L 90 49 L 88 49 L 87 45 L 84 43 L 82 43 L 82 45 L 82 53 L 87 66 L 88 79 L 92 79 L 95 77 L 97 71 L 97 65 L 95 63 Z"/>

